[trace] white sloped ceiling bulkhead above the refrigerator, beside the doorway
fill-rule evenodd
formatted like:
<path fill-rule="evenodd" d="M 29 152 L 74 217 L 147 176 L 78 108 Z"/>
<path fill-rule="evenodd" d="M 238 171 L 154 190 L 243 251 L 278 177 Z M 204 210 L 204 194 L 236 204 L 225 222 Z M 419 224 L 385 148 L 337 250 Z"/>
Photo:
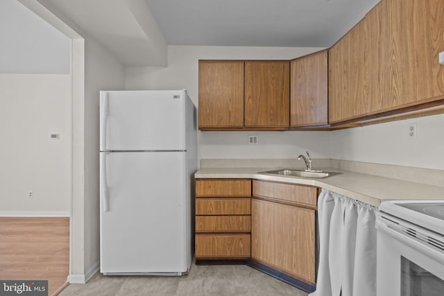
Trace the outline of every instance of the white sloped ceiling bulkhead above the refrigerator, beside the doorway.
<path fill-rule="evenodd" d="M 144 0 L 37 1 L 80 35 L 93 37 L 125 66 L 167 64 L 167 44 Z"/>

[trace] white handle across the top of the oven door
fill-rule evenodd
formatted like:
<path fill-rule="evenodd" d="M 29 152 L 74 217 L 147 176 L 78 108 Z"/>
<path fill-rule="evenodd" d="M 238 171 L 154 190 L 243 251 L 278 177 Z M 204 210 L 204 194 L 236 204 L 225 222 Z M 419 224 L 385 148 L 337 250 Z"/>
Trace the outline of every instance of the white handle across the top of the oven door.
<path fill-rule="evenodd" d="M 436 261 L 441 262 L 441 264 L 444 264 L 444 252 L 439 252 L 433 247 L 430 247 L 429 245 L 418 241 L 413 236 L 400 233 L 399 231 L 390 227 L 388 223 L 385 223 L 385 221 L 380 220 L 380 218 L 378 217 L 376 220 L 377 230 L 380 232 L 384 232 L 386 235 L 391 236 L 392 238 L 395 238 L 401 243 L 413 247 L 413 249 L 418 250 L 418 252 L 421 252 L 422 254 L 427 254 L 427 256 L 432 257 Z M 393 226 L 400 228 L 400 225 L 395 223 L 393 223 Z"/>

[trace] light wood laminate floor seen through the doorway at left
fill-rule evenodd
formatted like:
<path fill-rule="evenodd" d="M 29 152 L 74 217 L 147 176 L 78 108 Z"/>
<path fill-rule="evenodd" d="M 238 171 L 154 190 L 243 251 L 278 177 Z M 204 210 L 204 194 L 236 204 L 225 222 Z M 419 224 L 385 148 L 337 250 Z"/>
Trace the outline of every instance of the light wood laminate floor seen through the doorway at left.
<path fill-rule="evenodd" d="M 68 217 L 0 217 L 0 279 L 47 279 L 53 295 L 68 274 Z"/>

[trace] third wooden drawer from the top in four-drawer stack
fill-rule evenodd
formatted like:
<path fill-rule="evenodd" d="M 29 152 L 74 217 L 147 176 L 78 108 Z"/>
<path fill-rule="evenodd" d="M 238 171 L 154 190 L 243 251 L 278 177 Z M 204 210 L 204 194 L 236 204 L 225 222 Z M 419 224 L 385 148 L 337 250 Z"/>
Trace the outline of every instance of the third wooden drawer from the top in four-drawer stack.
<path fill-rule="evenodd" d="M 250 216 L 196 216 L 196 232 L 250 232 Z"/>

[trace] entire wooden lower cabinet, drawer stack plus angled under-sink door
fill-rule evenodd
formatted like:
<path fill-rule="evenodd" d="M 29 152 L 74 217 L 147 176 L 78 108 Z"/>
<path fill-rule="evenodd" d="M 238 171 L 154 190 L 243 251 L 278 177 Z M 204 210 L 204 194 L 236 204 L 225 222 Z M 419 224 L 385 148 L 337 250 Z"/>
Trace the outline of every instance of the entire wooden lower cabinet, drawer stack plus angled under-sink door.
<path fill-rule="evenodd" d="M 314 286 L 317 195 L 296 184 L 196 180 L 197 261 L 250 259 Z"/>

